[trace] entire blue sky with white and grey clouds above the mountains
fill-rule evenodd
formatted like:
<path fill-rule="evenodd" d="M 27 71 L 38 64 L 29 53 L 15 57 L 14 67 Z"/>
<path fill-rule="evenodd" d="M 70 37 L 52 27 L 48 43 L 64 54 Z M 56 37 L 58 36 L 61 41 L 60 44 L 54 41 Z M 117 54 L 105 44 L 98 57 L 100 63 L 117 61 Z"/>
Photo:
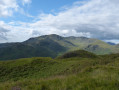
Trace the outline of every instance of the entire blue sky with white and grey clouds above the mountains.
<path fill-rule="evenodd" d="M 0 43 L 49 34 L 119 43 L 119 0 L 0 0 Z"/>

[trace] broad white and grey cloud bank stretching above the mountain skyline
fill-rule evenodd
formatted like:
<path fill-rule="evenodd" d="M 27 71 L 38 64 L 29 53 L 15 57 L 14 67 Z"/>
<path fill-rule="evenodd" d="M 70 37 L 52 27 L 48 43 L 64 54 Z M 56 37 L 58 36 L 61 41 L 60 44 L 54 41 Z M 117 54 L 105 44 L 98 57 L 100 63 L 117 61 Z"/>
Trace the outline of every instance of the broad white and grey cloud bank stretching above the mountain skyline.
<path fill-rule="evenodd" d="M 29 0 L 24 0 L 24 3 L 27 1 Z M 9 6 L 12 10 L 17 10 L 17 7 L 17 2 Z M 10 10 L 6 8 L 7 12 Z M 0 16 L 2 15 L 4 13 L 0 9 Z M 119 0 L 86 0 L 75 2 L 59 13 L 42 13 L 30 23 L 4 22 L 0 27 L 9 30 L 5 37 L 8 41 L 15 42 L 45 34 L 116 40 L 119 39 L 118 17 Z"/>

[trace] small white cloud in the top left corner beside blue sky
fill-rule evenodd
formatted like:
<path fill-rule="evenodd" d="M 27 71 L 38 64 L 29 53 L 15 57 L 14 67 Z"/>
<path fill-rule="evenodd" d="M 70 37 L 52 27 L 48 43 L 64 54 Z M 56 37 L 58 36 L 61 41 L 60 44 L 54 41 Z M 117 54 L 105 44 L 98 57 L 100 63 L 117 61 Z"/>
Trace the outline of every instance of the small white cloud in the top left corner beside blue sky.
<path fill-rule="evenodd" d="M 0 17 L 12 16 L 18 9 L 22 9 L 20 3 L 30 4 L 31 0 L 0 0 Z"/>

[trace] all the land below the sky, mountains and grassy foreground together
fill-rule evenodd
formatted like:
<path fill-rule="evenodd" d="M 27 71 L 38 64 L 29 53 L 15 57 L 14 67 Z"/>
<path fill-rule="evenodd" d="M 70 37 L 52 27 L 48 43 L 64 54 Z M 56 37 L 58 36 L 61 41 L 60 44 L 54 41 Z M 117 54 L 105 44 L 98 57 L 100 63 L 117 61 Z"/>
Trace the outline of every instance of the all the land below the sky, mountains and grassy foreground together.
<path fill-rule="evenodd" d="M 118 44 L 55 34 L 0 44 L 0 90 L 118 90 L 118 52 Z"/>

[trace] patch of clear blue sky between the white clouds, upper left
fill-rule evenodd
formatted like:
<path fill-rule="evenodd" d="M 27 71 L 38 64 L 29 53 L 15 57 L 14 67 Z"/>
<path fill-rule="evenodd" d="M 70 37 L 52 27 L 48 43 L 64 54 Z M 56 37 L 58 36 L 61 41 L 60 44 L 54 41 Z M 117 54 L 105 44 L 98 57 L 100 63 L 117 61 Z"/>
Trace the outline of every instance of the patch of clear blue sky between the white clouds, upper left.
<path fill-rule="evenodd" d="M 71 6 L 74 2 L 77 1 L 83 0 L 32 0 L 30 1 L 30 3 L 25 5 L 22 5 L 22 3 L 19 2 L 19 5 L 24 10 L 24 12 L 33 17 L 24 15 L 21 12 L 14 12 L 13 16 L 1 17 L 0 20 L 3 20 L 5 22 L 10 21 L 30 22 L 34 19 L 34 17 L 37 17 L 41 13 L 55 14 L 60 12 L 63 9 L 63 7 Z"/>

